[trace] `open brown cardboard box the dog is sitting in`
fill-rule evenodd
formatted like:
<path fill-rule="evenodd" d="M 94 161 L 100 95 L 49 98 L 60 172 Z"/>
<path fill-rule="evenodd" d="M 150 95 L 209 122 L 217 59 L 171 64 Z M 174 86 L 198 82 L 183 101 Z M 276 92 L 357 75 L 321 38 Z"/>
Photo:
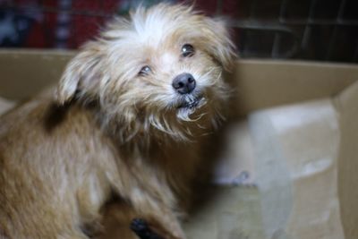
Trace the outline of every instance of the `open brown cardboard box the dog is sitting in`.
<path fill-rule="evenodd" d="M 0 51 L 0 113 L 74 52 Z M 216 185 L 192 239 L 358 238 L 358 66 L 241 60 Z"/>

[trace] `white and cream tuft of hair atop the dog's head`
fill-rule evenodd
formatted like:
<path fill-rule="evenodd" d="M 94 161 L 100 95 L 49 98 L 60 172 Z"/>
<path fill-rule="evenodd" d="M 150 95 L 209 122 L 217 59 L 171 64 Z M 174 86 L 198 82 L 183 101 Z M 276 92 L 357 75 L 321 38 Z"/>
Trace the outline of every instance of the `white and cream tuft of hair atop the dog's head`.
<path fill-rule="evenodd" d="M 191 7 L 159 4 L 157 7 L 138 8 L 131 14 L 131 21 L 123 38 L 153 49 L 174 48 L 185 38 L 201 36 L 203 17 Z M 128 34 L 129 33 L 129 34 Z"/>

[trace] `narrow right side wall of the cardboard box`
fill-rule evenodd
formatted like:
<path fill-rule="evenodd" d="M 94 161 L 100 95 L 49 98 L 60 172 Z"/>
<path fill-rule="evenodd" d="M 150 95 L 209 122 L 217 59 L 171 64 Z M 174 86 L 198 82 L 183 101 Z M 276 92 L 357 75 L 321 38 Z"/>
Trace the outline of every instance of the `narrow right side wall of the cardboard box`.
<path fill-rule="evenodd" d="M 338 192 L 345 238 L 358 238 L 358 83 L 336 98 L 341 143 Z"/>

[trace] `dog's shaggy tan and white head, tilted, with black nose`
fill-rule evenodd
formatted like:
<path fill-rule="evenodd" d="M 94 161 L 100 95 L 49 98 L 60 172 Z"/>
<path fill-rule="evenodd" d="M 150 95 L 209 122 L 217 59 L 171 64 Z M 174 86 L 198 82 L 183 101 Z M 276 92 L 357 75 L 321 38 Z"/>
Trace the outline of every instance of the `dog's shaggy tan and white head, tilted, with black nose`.
<path fill-rule="evenodd" d="M 98 101 L 104 121 L 124 125 L 125 137 L 155 129 L 184 139 L 217 124 L 228 96 L 222 75 L 233 60 L 224 22 L 158 4 L 115 19 L 84 45 L 56 97 Z"/>

